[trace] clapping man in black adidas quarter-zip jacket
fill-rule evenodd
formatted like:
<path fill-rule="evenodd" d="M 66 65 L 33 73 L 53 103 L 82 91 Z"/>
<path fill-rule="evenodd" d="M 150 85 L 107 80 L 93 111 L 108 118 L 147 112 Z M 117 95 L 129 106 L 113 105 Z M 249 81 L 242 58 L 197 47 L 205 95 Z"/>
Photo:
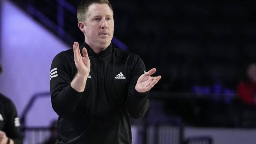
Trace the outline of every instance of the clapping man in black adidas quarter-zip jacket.
<path fill-rule="evenodd" d="M 57 144 L 131 144 L 131 117 L 142 117 L 151 77 L 143 61 L 112 47 L 112 6 L 108 0 L 82 1 L 78 27 L 85 41 L 55 56 L 50 71 L 51 101 L 59 115 Z"/>

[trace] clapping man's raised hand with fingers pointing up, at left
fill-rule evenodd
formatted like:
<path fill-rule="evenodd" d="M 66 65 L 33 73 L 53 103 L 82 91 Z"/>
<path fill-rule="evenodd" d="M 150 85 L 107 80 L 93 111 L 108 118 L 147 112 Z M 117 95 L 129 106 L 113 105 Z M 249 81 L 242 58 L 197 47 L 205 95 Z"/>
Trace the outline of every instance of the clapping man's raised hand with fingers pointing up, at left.
<path fill-rule="evenodd" d="M 91 67 L 91 62 L 90 62 L 86 48 L 83 48 L 83 57 L 80 53 L 78 42 L 74 42 L 73 50 L 74 50 L 74 59 L 75 59 L 75 65 L 77 68 L 77 74 L 83 77 L 87 77 Z"/>

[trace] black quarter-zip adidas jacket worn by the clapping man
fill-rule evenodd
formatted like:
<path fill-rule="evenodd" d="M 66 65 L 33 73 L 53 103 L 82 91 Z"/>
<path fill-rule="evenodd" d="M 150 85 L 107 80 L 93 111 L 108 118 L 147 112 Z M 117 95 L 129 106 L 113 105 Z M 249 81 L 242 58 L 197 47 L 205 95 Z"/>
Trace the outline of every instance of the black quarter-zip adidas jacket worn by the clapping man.
<path fill-rule="evenodd" d="M 70 83 L 77 74 L 73 49 L 61 52 L 50 71 L 51 102 L 59 115 L 57 144 L 131 144 L 131 117 L 142 117 L 148 92 L 135 90 L 144 73 L 141 58 L 109 47 L 96 54 L 85 42 L 91 68 L 83 92 Z M 83 55 L 83 54 L 82 54 Z"/>

